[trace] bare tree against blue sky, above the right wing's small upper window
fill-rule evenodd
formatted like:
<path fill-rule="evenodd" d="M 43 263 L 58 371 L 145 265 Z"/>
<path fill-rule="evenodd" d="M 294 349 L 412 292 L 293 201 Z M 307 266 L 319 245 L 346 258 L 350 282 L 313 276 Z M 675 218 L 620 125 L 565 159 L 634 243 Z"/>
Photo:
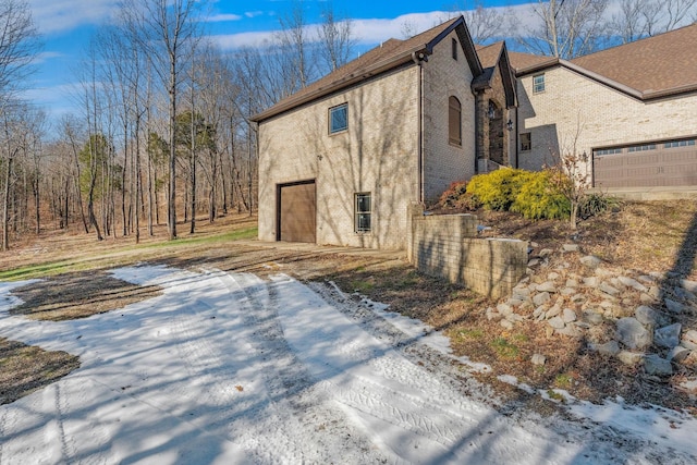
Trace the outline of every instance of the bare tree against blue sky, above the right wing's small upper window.
<path fill-rule="evenodd" d="M 537 0 L 538 25 L 522 26 L 515 39 L 533 53 L 572 59 L 601 46 L 606 0 Z M 515 20 L 513 20 L 515 21 Z"/>

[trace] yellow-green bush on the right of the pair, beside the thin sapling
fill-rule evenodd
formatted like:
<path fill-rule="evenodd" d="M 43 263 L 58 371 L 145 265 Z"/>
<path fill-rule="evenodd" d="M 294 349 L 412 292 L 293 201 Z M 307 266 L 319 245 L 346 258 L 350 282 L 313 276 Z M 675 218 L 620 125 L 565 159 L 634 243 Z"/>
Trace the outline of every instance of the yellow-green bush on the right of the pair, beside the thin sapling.
<path fill-rule="evenodd" d="M 571 203 L 559 192 L 553 180 L 557 174 L 549 170 L 529 174 L 510 210 L 529 220 L 568 218 Z"/>

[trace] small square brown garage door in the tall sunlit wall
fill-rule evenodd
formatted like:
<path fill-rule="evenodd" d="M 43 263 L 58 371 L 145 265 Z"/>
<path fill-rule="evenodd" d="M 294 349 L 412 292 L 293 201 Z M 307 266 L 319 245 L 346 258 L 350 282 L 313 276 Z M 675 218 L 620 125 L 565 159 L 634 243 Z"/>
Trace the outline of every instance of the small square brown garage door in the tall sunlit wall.
<path fill-rule="evenodd" d="M 317 242 L 315 180 L 278 185 L 277 240 Z"/>

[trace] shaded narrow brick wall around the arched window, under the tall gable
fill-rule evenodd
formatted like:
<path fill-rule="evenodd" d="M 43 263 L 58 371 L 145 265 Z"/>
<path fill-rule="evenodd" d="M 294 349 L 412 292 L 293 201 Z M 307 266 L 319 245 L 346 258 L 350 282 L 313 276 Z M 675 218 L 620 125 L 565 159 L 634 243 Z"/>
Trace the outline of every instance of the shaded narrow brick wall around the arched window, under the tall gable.
<path fill-rule="evenodd" d="M 437 200 L 453 181 L 475 174 L 475 97 L 472 71 L 463 50 L 453 60 L 455 32 L 433 48 L 424 63 L 424 194 L 427 204 Z M 448 99 L 462 105 L 462 147 L 448 140 Z"/>

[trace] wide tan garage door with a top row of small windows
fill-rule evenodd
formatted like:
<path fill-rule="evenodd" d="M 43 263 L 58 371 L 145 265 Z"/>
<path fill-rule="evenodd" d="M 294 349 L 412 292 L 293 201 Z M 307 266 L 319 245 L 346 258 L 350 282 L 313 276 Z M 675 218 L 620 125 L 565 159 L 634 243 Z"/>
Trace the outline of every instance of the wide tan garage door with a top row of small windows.
<path fill-rule="evenodd" d="M 594 150 L 596 187 L 697 185 L 695 139 Z"/>

